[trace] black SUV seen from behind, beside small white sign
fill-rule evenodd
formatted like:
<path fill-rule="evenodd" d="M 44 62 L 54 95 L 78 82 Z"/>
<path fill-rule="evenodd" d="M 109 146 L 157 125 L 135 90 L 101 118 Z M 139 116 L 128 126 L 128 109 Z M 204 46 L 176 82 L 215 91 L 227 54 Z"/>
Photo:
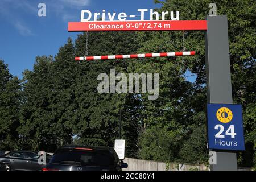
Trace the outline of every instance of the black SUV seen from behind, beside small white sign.
<path fill-rule="evenodd" d="M 128 165 L 119 160 L 114 148 L 61 146 L 43 171 L 121 171 Z"/>

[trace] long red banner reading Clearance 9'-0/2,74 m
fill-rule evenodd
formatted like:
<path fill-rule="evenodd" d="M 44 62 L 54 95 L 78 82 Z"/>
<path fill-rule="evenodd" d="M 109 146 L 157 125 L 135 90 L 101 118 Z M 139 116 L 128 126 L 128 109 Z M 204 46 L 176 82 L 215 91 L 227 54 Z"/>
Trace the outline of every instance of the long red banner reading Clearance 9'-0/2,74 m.
<path fill-rule="evenodd" d="M 207 30 L 206 20 L 146 20 L 69 22 L 68 31 L 164 31 Z"/>

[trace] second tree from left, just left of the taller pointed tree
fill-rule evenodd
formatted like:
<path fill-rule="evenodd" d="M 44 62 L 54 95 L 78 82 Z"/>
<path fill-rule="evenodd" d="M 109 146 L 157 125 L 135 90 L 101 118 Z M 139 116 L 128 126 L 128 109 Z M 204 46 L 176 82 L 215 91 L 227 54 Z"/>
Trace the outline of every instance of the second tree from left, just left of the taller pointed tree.
<path fill-rule="evenodd" d="M 52 134 L 52 118 L 49 98 L 52 88 L 49 86 L 51 75 L 49 67 L 53 57 L 36 57 L 33 71 L 23 73 L 23 104 L 21 107 L 21 126 L 19 127 L 20 148 L 27 150 L 48 150 L 56 145 L 56 135 Z"/>

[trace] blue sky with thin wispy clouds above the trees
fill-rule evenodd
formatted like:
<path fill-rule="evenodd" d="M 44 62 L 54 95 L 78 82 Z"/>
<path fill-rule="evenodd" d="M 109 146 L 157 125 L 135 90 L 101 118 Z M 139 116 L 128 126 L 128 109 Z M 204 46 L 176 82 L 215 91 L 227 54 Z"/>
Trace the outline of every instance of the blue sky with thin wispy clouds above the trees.
<path fill-rule="evenodd" d="M 41 2 L 46 17 L 38 16 Z M 160 6 L 154 0 L 1 0 L 0 59 L 12 75 L 22 78 L 25 69 L 32 70 L 36 56 L 56 55 L 69 36 L 76 39 L 79 32 L 68 32 L 68 22 L 79 22 L 81 10 L 138 15 L 137 9 Z"/>

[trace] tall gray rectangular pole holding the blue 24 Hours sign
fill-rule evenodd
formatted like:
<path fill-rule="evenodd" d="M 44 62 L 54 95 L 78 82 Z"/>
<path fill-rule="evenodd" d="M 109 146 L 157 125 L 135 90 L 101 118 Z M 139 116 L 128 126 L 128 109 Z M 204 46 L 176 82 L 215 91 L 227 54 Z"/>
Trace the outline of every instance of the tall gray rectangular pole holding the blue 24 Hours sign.
<path fill-rule="evenodd" d="M 207 16 L 205 34 L 205 66 L 207 71 L 207 102 L 232 104 L 228 20 L 226 15 Z M 210 170 L 237 170 L 236 152 L 216 151 L 217 164 Z"/>

